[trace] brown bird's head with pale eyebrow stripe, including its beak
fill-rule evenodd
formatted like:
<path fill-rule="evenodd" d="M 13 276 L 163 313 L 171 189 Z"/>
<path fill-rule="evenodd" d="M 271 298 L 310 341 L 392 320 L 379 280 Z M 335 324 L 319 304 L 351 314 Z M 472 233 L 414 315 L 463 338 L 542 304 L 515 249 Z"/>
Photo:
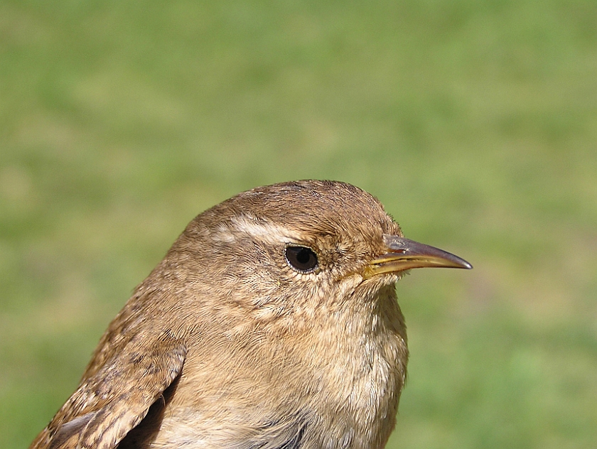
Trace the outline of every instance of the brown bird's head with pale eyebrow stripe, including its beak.
<path fill-rule="evenodd" d="M 470 268 L 405 239 L 369 193 L 316 180 L 255 188 L 216 205 L 189 224 L 168 259 L 179 273 L 185 267 L 201 297 L 269 318 L 370 301 L 408 269 Z"/>

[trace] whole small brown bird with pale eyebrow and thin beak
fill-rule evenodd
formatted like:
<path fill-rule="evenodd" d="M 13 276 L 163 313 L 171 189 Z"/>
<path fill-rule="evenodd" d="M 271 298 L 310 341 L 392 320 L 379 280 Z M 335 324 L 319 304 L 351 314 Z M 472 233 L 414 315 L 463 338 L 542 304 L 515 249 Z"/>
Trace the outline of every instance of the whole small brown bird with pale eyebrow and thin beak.
<path fill-rule="evenodd" d="M 196 217 L 109 325 L 31 449 L 383 448 L 407 372 L 394 283 L 470 269 L 332 181 Z"/>

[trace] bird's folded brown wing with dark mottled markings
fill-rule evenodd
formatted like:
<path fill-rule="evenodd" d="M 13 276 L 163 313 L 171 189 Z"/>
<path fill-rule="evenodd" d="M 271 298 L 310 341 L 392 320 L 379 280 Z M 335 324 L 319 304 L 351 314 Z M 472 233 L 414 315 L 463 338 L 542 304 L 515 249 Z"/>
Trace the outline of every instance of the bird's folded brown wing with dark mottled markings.
<path fill-rule="evenodd" d="M 144 352 L 114 354 L 83 379 L 29 449 L 113 449 L 181 373 L 182 340 L 161 335 Z"/>

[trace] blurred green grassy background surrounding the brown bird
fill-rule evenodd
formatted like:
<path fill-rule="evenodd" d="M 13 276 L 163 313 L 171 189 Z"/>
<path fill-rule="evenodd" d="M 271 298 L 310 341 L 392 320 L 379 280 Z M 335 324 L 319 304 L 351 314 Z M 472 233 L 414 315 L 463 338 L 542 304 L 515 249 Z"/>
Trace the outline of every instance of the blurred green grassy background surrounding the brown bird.
<path fill-rule="evenodd" d="M 0 1 L 0 447 L 199 212 L 301 178 L 473 271 L 397 285 L 389 448 L 595 448 L 597 3 Z"/>

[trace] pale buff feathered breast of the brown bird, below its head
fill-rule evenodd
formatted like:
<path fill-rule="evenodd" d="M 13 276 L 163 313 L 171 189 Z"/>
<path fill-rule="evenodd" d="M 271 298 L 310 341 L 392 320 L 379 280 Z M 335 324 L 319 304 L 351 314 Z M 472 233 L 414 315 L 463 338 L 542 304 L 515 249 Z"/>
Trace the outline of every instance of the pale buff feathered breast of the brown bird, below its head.
<path fill-rule="evenodd" d="M 212 337 L 188 352 L 154 448 L 382 448 L 394 427 L 407 347 L 386 305 L 308 330 Z"/>

